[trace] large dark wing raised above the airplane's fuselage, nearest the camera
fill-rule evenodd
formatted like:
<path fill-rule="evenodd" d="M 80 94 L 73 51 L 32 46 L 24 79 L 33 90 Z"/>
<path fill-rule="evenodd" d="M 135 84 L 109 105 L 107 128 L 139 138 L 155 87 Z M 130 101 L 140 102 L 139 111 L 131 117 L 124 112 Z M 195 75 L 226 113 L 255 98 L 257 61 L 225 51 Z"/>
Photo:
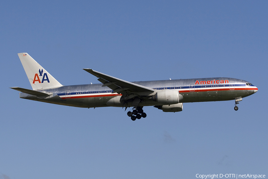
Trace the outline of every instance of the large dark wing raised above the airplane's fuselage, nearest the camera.
<path fill-rule="evenodd" d="M 131 83 L 128 81 L 121 80 L 119 78 L 115 78 L 109 75 L 105 75 L 103 73 L 97 72 L 92 69 L 83 69 L 92 75 L 98 77 L 99 81 L 103 83 L 102 87 L 109 87 L 110 89 L 113 90 L 113 92 L 116 92 L 118 94 L 129 94 L 129 93 L 153 93 L 154 90 L 152 88 L 144 87 L 135 83 Z"/>

